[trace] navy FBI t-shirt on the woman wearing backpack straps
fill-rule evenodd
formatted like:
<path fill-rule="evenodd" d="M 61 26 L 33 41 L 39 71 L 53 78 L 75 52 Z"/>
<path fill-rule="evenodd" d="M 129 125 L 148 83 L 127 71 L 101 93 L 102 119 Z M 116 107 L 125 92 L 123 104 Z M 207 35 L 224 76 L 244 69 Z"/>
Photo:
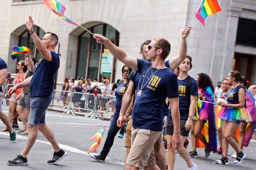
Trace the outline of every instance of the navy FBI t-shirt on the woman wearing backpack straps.
<path fill-rule="evenodd" d="M 187 120 L 188 119 L 188 113 L 189 113 L 189 106 L 190 106 L 190 95 L 196 95 L 198 96 L 198 84 L 196 80 L 191 81 L 191 89 L 190 94 L 188 91 L 188 80 L 190 79 L 190 76 L 188 76 L 184 80 L 178 79 L 179 84 L 179 109 L 180 109 L 180 119 L 181 120 Z M 172 117 L 171 110 L 168 112 L 168 117 Z"/>

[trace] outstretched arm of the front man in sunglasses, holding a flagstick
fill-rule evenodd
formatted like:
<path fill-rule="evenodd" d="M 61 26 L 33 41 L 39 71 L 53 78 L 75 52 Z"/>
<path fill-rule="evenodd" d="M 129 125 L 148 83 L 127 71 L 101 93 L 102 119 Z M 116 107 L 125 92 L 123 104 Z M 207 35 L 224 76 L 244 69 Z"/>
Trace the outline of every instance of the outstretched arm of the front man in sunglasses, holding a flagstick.
<path fill-rule="evenodd" d="M 94 34 L 94 39 L 97 40 L 97 43 L 104 44 L 110 53 L 119 61 L 123 62 L 128 67 L 132 68 L 135 71 L 138 71 L 138 63 L 137 59 L 126 54 L 124 50 L 117 47 L 115 44 L 113 44 L 109 39 L 106 37 L 100 35 L 100 34 Z"/>

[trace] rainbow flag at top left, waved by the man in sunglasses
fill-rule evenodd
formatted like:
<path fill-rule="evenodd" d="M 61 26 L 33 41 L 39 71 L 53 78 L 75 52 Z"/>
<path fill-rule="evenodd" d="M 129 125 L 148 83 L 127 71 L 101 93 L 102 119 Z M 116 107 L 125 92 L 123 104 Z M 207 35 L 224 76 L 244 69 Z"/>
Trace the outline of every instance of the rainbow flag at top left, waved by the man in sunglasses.
<path fill-rule="evenodd" d="M 72 21 L 71 19 L 64 16 L 64 11 L 66 10 L 66 8 L 64 6 L 62 6 L 58 1 L 56 1 L 56 0 L 44 0 L 44 4 L 46 4 L 46 6 L 48 8 L 50 8 L 50 10 L 52 10 L 55 14 L 60 16 L 62 19 L 64 19 L 68 23 L 76 25 L 76 26 L 80 26 L 77 23 L 75 23 L 74 21 Z"/>

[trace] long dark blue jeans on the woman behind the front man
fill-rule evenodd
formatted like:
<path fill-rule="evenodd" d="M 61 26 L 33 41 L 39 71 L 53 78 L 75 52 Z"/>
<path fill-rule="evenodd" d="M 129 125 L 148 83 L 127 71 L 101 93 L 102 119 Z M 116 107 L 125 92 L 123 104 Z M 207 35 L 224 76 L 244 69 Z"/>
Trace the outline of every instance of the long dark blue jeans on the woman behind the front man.
<path fill-rule="evenodd" d="M 110 151 L 110 148 L 112 147 L 112 145 L 114 143 L 114 138 L 115 138 L 117 132 L 120 130 L 120 128 L 117 127 L 116 121 L 117 121 L 117 118 L 113 116 L 113 118 L 110 122 L 109 129 L 108 129 L 107 139 L 105 141 L 102 151 L 100 152 L 100 155 L 104 159 L 106 159 L 108 152 Z"/>

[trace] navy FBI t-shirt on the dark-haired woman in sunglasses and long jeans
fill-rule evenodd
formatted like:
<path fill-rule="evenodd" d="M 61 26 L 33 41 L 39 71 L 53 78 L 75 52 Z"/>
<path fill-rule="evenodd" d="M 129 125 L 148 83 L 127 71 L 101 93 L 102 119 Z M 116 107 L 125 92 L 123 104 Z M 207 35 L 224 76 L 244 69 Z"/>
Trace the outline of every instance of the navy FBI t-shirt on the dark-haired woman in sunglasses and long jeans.
<path fill-rule="evenodd" d="M 124 96 L 124 93 L 127 90 L 127 86 L 124 85 L 124 81 L 118 84 L 118 87 L 116 88 L 115 95 L 116 95 L 116 109 L 114 112 L 114 117 L 118 118 L 119 113 L 121 110 L 121 105 L 122 105 L 122 99 Z"/>

